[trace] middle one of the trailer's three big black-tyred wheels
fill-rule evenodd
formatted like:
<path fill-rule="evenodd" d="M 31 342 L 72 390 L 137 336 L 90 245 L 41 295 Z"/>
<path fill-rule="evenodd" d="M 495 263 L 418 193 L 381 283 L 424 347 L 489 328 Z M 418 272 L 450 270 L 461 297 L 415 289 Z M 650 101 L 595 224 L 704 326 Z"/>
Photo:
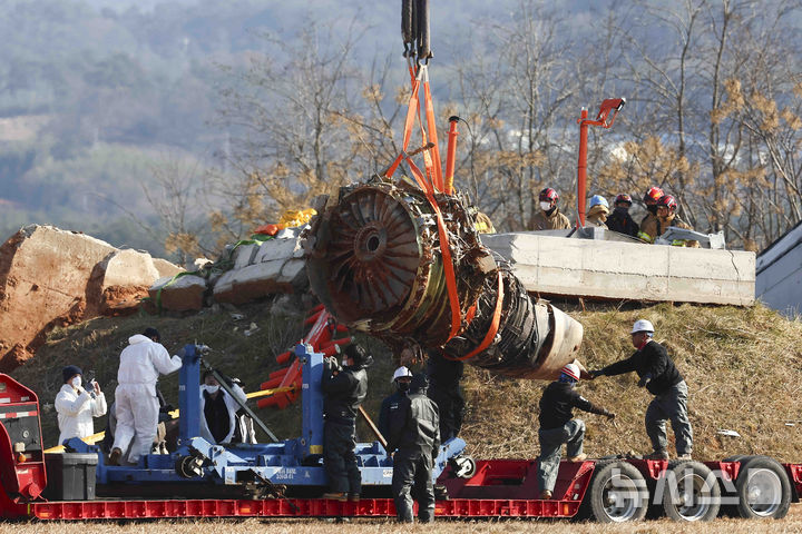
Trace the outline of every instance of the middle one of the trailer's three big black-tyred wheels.
<path fill-rule="evenodd" d="M 663 486 L 663 511 L 671 520 L 713 521 L 720 507 L 721 487 L 710 467 L 700 462 L 668 465 Z"/>

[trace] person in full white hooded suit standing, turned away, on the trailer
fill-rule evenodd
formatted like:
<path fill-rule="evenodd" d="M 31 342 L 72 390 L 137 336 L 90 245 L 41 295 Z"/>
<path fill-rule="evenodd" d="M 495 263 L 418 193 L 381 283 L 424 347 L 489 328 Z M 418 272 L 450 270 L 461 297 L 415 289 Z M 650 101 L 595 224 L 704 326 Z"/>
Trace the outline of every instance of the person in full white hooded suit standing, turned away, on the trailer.
<path fill-rule="evenodd" d="M 139 457 L 153 447 L 159 411 L 156 380 L 159 374 L 168 375 L 182 366 L 182 357 L 170 358 L 160 340 L 156 328 L 147 328 L 143 334 L 129 337 L 129 345 L 120 354 L 115 389 L 117 428 L 109 455 L 111 465 L 119 465 L 123 451 L 129 445 L 130 464 L 138 463 Z"/>

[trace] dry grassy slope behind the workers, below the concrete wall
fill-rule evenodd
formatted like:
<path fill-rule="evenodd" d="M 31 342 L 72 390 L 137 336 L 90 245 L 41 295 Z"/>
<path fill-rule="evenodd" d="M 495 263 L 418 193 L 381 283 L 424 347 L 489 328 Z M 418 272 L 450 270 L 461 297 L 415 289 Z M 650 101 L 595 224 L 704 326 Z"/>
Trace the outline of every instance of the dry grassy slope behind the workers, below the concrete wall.
<path fill-rule="evenodd" d="M 761 453 L 782 461 L 802 461 L 802 423 L 785 424 L 802 419 L 798 402 L 802 389 L 802 323 L 789 322 L 762 306 L 561 307 L 585 326 L 581 359 L 589 368 L 632 353 L 628 328 L 636 318 L 655 324 L 657 340 L 665 343 L 688 382 L 697 457 Z M 12 376 L 32 387 L 41 403 L 51 403 L 60 387 L 61 367 L 75 363 L 85 370 L 94 369 L 110 396 L 118 355 L 128 336 L 154 325 L 170 350 L 193 342 L 212 346 L 213 364 L 242 378 L 246 390 L 254 390 L 280 367 L 275 355 L 303 335 L 303 316 L 294 313 L 299 308 L 297 301 L 283 297 L 275 305 L 267 301 L 241 307 L 238 312 L 246 318 L 239 320 L 226 309 L 207 309 L 187 317 L 94 319 L 53 333 L 38 356 Z M 252 322 L 260 329 L 245 336 L 243 330 Z M 366 343 L 376 364 L 370 369 L 365 407 L 376 414 L 381 398 L 390 390 L 393 364 L 380 344 L 371 339 Z M 463 437 L 473 456 L 537 456 L 537 404 L 544 387 L 545 383 L 493 377 L 468 367 L 464 389 L 469 413 Z M 580 388 L 586 397 L 618 414 L 615 425 L 598 416 L 584 416 L 588 424 L 586 451 L 590 455 L 648 451 L 643 417 L 651 396 L 636 386 L 634 375 L 604 377 L 584 383 Z M 177 374 L 164 378 L 162 389 L 177 405 Z M 300 434 L 300 405 L 258 413 L 280 438 Z M 96 428 L 104 424 L 98 421 Z M 42 416 L 42 427 L 46 445 L 52 445 L 58 436 L 55 413 Z M 718 428 L 737 431 L 743 437 L 718 436 Z M 365 427 L 360 428 L 360 436 L 370 438 Z"/>

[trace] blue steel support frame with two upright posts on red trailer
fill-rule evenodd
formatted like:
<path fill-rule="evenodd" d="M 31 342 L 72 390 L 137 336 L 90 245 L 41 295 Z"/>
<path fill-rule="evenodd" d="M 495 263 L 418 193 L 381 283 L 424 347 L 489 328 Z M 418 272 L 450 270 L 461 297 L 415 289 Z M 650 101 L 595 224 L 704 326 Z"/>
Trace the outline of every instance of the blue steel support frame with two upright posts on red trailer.
<path fill-rule="evenodd" d="M 198 436 L 200 414 L 200 360 L 196 346 L 185 347 L 180 369 L 178 404 L 180 407 L 179 447 L 173 454 L 143 456 L 137 466 L 108 466 L 99 447 L 78 438 L 68 445 L 77 452 L 99 455 L 97 482 L 109 483 L 214 483 L 237 484 L 242 472 L 255 473 L 275 484 L 296 486 L 325 486 L 329 481 L 323 468 L 323 355 L 310 346 L 297 345 L 295 355 L 303 364 L 302 435 L 268 444 L 216 445 Z M 446 468 L 449 458 L 462 453 L 466 444 L 460 438 L 449 439 L 440 448 L 434 463 L 433 478 Z M 358 443 L 356 461 L 363 485 L 389 486 L 392 482 L 392 457 L 379 442 Z M 202 474 L 186 478 L 176 472 L 176 463 L 186 456 L 203 459 Z"/>

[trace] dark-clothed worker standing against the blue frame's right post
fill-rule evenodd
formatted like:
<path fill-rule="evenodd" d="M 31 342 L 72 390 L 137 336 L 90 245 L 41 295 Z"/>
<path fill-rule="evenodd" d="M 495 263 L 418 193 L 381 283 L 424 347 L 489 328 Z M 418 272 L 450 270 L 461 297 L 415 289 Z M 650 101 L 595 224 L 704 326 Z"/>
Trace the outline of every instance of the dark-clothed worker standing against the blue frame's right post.
<path fill-rule="evenodd" d="M 323 453 L 330 493 L 323 498 L 359 501 L 362 477 L 356 465 L 356 414 L 368 394 L 368 373 L 373 358 L 359 345 L 344 350 L 343 366 L 326 358 L 321 388 L 323 399 Z"/>

